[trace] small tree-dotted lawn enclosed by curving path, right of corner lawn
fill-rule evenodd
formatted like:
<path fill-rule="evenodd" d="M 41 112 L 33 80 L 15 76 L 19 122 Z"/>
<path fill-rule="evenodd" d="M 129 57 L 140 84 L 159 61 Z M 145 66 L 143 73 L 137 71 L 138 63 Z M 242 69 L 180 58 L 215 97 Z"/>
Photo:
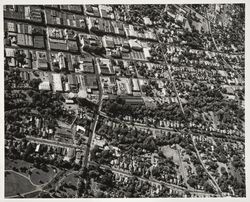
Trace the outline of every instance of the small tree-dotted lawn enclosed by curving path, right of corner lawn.
<path fill-rule="evenodd" d="M 32 170 L 30 179 L 34 184 L 41 185 L 41 184 L 49 182 L 55 175 L 56 173 L 54 173 L 51 167 L 48 167 L 47 172 L 41 169 L 35 168 L 34 170 Z"/>

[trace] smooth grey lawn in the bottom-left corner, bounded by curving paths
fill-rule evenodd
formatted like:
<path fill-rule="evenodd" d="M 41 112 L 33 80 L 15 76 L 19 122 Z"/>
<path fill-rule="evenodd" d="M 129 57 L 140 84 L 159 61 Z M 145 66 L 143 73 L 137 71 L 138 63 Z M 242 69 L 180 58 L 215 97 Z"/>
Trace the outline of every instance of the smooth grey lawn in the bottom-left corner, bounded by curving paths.
<path fill-rule="evenodd" d="M 13 172 L 5 172 L 5 197 L 33 190 L 35 190 L 35 187 L 26 178 Z"/>

